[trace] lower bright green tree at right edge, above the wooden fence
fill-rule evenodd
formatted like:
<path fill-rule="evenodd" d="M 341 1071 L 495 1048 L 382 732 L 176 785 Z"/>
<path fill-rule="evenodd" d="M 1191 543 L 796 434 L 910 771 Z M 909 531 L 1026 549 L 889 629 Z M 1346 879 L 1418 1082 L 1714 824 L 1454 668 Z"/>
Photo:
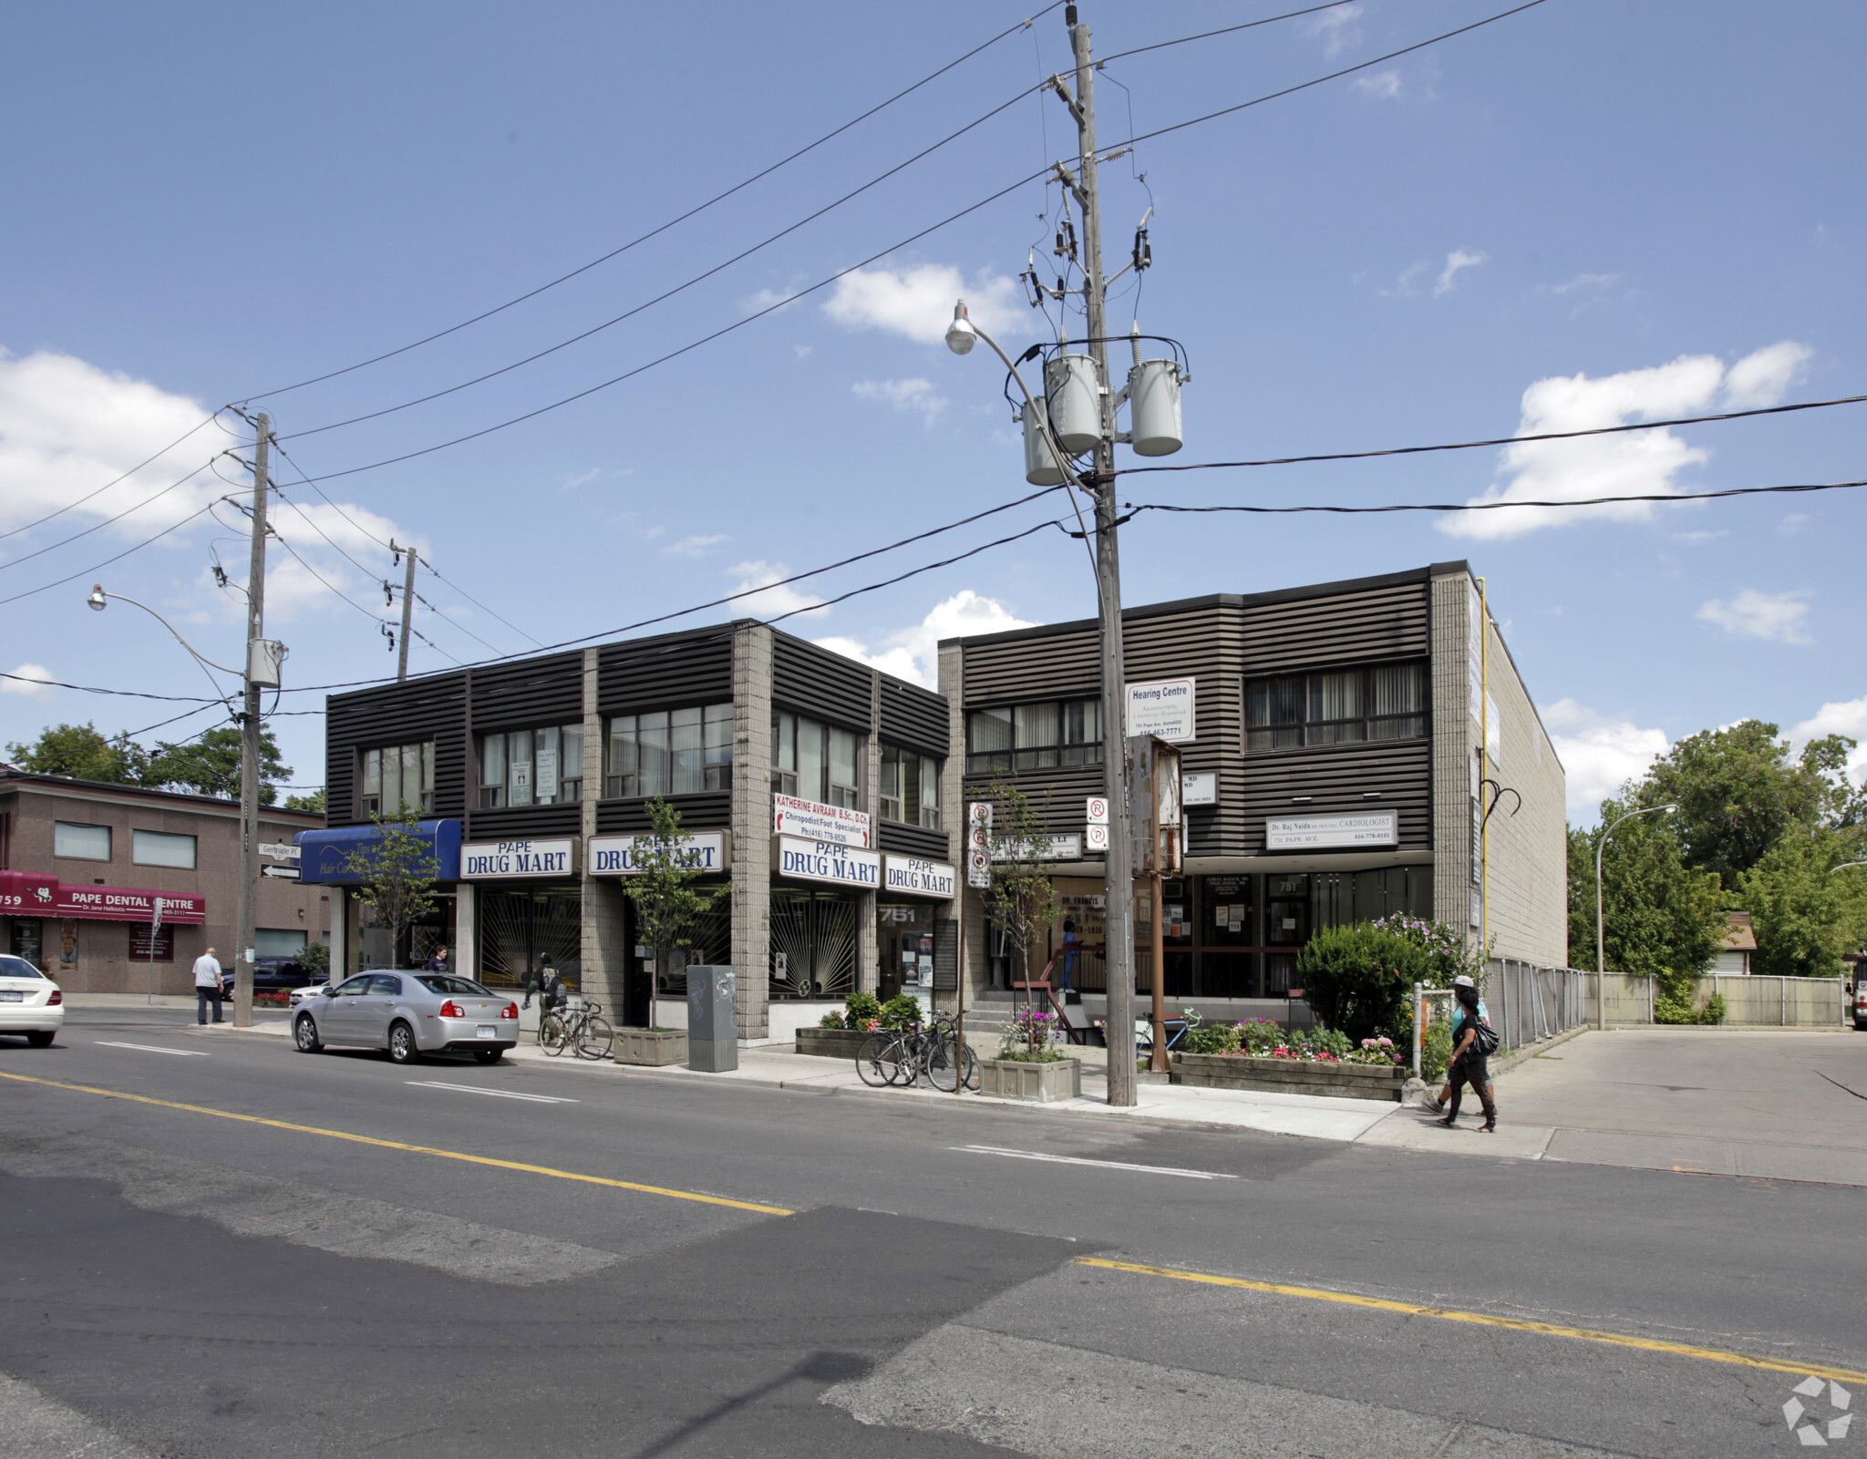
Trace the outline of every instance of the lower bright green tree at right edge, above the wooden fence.
<path fill-rule="evenodd" d="M 1738 886 L 1757 933 L 1751 972 L 1841 974 L 1841 953 L 1867 942 L 1867 868 L 1832 873 L 1858 860 L 1867 860 L 1860 827 L 1796 830 L 1770 847 Z"/>

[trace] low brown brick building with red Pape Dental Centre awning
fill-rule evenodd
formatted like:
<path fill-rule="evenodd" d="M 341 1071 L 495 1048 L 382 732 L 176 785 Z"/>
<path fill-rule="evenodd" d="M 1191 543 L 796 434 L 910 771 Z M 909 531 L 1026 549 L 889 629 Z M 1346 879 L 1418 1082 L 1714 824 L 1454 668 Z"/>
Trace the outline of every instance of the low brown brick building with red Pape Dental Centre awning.
<path fill-rule="evenodd" d="M 299 884 L 293 845 L 323 823 L 260 810 L 260 957 L 329 940 L 329 894 Z M 69 993 L 187 994 L 204 950 L 233 966 L 237 901 L 237 802 L 0 765 L 0 948 Z"/>

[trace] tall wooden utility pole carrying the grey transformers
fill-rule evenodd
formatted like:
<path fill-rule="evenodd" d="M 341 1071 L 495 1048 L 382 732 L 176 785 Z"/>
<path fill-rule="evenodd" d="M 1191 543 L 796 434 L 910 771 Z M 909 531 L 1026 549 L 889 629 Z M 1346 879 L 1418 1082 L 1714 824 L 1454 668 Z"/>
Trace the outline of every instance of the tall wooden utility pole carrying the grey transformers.
<path fill-rule="evenodd" d="M 1075 6 L 1064 6 L 1064 26 L 1075 52 L 1075 99 L 1068 93 L 1077 131 L 1077 177 L 1074 185 L 1083 211 L 1083 312 L 1088 325 L 1088 353 L 1096 362 L 1102 431 L 1096 440 L 1096 591 L 1102 599 L 1102 761 L 1109 793 L 1109 860 L 1105 882 L 1103 965 L 1109 981 L 1109 1103 L 1133 1105 L 1135 1078 L 1135 937 L 1133 868 L 1128 830 L 1133 817 L 1128 767 L 1128 683 L 1122 668 L 1122 562 L 1116 549 L 1115 506 L 1115 394 L 1109 390 L 1107 319 L 1102 276 L 1102 198 L 1096 190 L 1096 63 L 1088 49 L 1088 26 Z M 1060 90 L 1060 88 L 1059 88 Z M 1156 922 L 1156 925 L 1159 925 Z M 1159 981 L 1161 968 L 1154 968 Z"/>

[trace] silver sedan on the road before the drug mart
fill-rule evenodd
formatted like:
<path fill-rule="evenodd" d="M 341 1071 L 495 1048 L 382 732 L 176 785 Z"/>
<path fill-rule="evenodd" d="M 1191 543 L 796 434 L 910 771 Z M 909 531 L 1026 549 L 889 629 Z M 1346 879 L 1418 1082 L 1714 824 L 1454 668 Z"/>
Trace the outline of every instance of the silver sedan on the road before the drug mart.
<path fill-rule="evenodd" d="M 306 1054 L 351 1045 L 396 1063 L 441 1052 L 497 1063 L 519 1041 L 519 1007 L 452 972 L 360 972 L 301 1002 L 291 1037 Z"/>

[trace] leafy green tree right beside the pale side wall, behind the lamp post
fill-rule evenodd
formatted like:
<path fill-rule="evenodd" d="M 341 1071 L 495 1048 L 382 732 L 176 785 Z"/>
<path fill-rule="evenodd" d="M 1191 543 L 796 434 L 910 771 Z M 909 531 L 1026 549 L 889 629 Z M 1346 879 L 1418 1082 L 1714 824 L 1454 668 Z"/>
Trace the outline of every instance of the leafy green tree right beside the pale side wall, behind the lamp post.
<path fill-rule="evenodd" d="M 1628 810 L 1602 802 L 1602 825 Z M 1671 828 L 1641 815 L 1615 828 L 1602 858 L 1607 970 L 1650 974 L 1682 991 L 1718 957 L 1725 894 L 1718 873 L 1686 864 Z M 1594 970 L 1594 849 L 1602 828 L 1568 832 L 1568 965 Z"/>

